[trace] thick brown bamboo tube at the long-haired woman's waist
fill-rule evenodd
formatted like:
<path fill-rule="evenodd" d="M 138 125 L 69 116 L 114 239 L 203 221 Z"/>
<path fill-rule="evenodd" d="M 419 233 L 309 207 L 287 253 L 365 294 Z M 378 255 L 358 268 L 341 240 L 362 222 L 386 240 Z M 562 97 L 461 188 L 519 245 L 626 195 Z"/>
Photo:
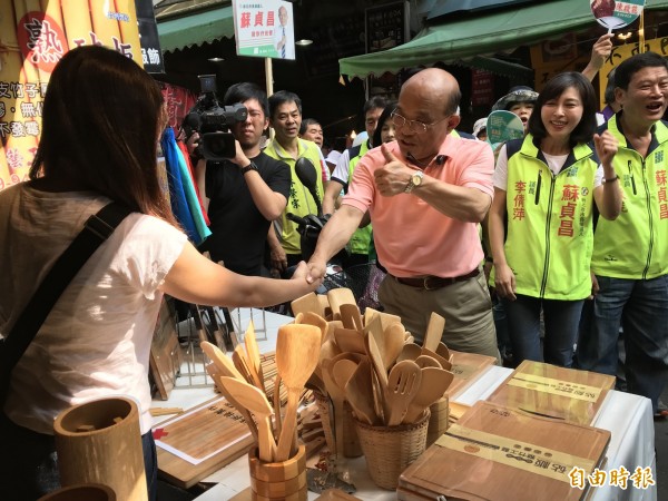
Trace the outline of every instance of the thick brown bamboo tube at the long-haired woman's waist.
<path fill-rule="evenodd" d="M 53 422 L 62 487 L 100 483 L 119 500 L 148 499 L 139 411 L 125 397 L 62 411 Z"/>

